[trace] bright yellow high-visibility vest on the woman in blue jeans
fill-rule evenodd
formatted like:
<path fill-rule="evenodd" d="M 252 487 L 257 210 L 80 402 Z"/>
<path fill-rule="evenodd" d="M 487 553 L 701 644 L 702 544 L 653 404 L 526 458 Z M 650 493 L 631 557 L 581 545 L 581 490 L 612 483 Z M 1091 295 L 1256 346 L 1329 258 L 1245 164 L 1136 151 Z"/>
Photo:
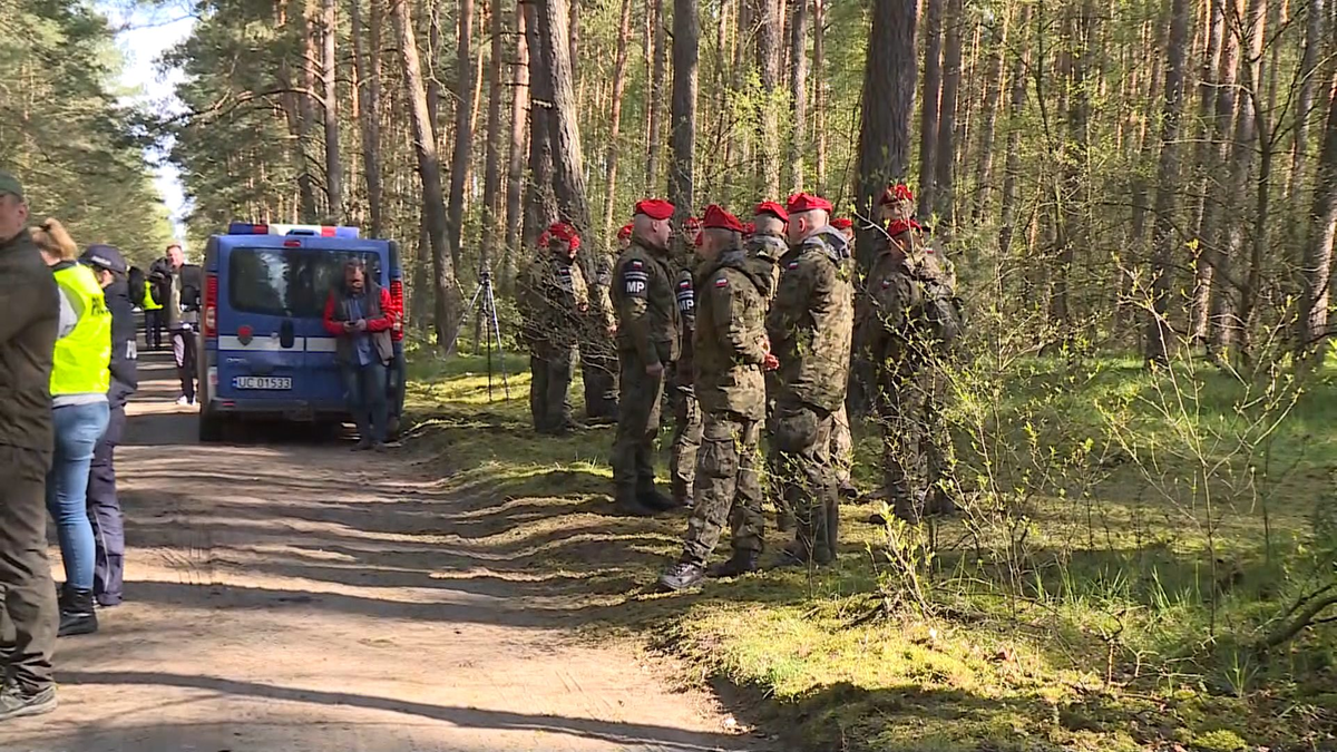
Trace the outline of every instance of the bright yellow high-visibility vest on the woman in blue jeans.
<path fill-rule="evenodd" d="M 111 310 L 92 269 L 71 264 L 55 272 L 56 284 L 79 314 L 64 337 L 56 340 L 51 368 L 51 396 L 104 395 L 111 387 Z"/>

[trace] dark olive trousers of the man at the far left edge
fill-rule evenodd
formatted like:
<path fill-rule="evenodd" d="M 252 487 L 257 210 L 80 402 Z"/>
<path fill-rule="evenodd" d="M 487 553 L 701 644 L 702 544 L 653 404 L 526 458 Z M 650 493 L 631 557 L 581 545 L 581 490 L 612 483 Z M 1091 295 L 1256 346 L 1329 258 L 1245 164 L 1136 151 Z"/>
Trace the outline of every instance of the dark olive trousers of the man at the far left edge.
<path fill-rule="evenodd" d="M 47 561 L 47 468 L 51 456 L 0 444 L 0 642 L 4 670 L 25 692 L 52 685 L 56 586 Z"/>

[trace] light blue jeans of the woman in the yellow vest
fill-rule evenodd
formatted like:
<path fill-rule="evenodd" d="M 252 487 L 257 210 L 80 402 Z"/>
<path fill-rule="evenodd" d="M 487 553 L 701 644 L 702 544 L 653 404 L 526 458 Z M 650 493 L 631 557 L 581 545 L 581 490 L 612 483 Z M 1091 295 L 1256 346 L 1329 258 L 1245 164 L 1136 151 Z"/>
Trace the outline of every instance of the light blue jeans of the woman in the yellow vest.
<path fill-rule="evenodd" d="M 111 408 L 106 401 L 71 404 L 51 411 L 56 451 L 47 472 L 47 511 L 56 521 L 66 585 L 92 590 L 96 559 L 88 522 L 88 467 L 94 447 L 107 430 Z"/>

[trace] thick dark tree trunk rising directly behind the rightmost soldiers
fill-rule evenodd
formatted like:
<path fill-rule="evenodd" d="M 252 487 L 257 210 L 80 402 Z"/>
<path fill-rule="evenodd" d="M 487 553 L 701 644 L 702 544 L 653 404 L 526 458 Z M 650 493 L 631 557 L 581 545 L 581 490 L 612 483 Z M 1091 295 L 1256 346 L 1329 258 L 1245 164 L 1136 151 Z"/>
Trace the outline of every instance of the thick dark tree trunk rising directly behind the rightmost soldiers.
<path fill-rule="evenodd" d="M 858 134 L 858 214 L 876 218 L 877 197 L 909 169 L 910 118 L 915 111 L 915 0 L 873 0 L 873 23 L 864 66 L 864 108 Z M 868 269 L 881 248 L 881 233 L 858 230 L 858 264 Z"/>

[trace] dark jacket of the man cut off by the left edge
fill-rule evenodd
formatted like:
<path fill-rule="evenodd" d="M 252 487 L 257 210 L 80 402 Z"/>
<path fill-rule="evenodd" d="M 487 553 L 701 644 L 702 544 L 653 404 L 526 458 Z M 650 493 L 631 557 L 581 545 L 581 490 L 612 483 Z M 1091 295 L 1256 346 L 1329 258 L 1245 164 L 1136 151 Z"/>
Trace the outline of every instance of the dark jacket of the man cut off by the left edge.
<path fill-rule="evenodd" d="M 0 444 L 51 452 L 59 296 L 27 230 L 0 241 Z"/>

